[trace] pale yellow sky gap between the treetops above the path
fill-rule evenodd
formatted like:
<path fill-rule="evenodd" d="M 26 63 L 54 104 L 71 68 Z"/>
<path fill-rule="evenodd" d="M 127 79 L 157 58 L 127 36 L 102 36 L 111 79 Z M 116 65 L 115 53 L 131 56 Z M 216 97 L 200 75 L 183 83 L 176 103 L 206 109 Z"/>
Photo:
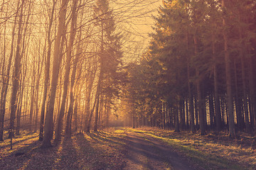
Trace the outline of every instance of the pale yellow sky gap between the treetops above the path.
<path fill-rule="evenodd" d="M 149 33 L 153 33 L 154 19 L 161 0 L 112 0 L 112 8 L 117 16 L 117 29 L 127 33 L 125 52 L 132 60 L 137 60 L 149 45 Z"/>

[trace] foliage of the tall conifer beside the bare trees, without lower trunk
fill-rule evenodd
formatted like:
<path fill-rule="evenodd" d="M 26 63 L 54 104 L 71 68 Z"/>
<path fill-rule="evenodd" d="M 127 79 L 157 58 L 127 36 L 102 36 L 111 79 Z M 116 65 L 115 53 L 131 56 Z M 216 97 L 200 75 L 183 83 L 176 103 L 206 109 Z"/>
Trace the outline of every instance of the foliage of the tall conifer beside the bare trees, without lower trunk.
<path fill-rule="evenodd" d="M 98 0 L 95 5 L 95 18 L 100 30 L 100 64 L 102 79 L 102 94 L 110 100 L 119 96 L 120 86 L 124 81 L 122 68 L 122 33 L 115 28 L 116 18 L 108 0 Z"/>

